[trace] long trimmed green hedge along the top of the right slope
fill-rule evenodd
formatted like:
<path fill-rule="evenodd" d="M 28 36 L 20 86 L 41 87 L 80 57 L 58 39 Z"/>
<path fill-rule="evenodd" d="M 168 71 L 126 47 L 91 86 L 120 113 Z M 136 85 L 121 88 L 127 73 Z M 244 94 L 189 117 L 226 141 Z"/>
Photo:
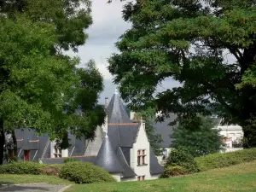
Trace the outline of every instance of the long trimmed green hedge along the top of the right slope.
<path fill-rule="evenodd" d="M 253 160 L 256 160 L 256 148 L 248 148 L 223 154 L 208 154 L 195 158 L 200 171 L 233 166 Z"/>

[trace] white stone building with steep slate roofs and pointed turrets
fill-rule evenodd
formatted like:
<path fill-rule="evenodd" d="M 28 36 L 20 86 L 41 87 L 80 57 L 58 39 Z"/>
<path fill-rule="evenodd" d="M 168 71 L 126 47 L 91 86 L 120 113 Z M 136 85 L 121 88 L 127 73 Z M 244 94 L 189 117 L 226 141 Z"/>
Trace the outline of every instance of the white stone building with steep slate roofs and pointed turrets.
<path fill-rule="evenodd" d="M 163 168 L 150 148 L 145 123 L 131 121 L 117 92 L 109 104 L 106 99 L 105 107 L 108 123 L 97 127 L 93 141 L 78 140 L 69 135 L 70 147 L 61 149 L 47 136 L 38 137 L 27 129 L 16 130 L 18 156 L 44 164 L 63 163 L 67 157 L 73 157 L 101 166 L 118 181 L 158 178 Z"/>

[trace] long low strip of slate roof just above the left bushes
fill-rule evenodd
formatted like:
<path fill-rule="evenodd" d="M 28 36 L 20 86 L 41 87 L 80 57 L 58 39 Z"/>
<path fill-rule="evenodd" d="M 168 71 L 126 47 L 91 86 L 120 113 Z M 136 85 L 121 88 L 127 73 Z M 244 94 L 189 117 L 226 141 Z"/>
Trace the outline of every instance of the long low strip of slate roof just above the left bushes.
<path fill-rule="evenodd" d="M 44 158 L 41 160 L 42 160 L 42 163 L 44 163 L 44 164 L 61 164 L 64 162 L 64 160 L 66 160 L 68 158 L 73 158 L 76 160 L 80 160 L 82 162 L 90 162 L 90 163 L 94 163 L 94 161 L 96 160 L 96 156 L 73 156 L 73 157 L 63 157 L 63 158 Z"/>

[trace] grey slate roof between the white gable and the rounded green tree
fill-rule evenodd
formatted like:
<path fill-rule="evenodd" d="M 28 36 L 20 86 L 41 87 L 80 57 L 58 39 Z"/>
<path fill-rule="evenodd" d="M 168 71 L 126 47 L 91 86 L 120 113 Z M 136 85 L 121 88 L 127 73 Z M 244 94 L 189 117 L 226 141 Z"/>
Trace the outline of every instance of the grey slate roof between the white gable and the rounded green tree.
<path fill-rule="evenodd" d="M 162 148 L 170 148 L 170 145 L 172 143 L 172 138 L 171 138 L 172 130 L 173 130 L 173 127 L 177 126 L 177 125 L 175 126 L 168 125 L 174 119 L 177 118 L 177 114 L 170 113 L 169 115 L 170 117 L 166 118 L 164 122 L 154 123 L 155 134 L 160 134 L 160 136 L 163 139 Z M 154 121 L 154 119 L 152 120 Z"/>

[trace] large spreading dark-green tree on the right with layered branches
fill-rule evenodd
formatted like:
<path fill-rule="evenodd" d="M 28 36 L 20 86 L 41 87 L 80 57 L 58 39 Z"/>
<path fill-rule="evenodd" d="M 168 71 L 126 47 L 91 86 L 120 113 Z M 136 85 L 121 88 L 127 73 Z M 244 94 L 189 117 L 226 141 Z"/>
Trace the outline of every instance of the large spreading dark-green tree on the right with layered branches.
<path fill-rule="evenodd" d="M 256 147 L 256 6 L 251 0 L 137 0 L 109 71 L 133 108 L 179 113 L 182 123 L 213 108 Z M 154 96 L 166 79 L 181 83 Z"/>

